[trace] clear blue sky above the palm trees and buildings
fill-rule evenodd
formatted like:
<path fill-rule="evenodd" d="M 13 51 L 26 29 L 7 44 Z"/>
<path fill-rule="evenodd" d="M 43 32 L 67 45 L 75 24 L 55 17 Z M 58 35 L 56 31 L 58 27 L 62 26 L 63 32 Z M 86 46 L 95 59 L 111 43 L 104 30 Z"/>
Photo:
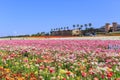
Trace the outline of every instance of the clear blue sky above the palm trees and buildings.
<path fill-rule="evenodd" d="M 0 0 L 0 36 L 120 23 L 120 0 Z"/>

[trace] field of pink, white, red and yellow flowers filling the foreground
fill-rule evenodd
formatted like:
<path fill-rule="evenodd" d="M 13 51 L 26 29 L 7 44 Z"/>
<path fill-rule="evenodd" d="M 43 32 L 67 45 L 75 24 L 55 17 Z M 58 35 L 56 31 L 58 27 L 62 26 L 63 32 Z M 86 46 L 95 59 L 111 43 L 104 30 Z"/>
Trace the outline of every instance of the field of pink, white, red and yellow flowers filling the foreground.
<path fill-rule="evenodd" d="M 120 40 L 0 40 L 0 80 L 120 80 Z"/>

